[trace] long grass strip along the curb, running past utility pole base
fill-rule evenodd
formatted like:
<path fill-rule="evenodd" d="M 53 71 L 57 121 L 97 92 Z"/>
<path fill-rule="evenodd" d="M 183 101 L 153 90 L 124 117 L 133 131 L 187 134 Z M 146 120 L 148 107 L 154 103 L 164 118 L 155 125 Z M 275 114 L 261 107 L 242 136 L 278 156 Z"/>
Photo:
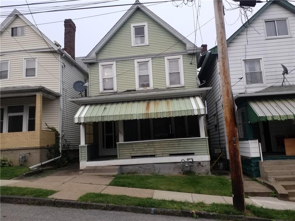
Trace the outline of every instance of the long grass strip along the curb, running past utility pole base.
<path fill-rule="evenodd" d="M 178 202 L 174 200 L 129 197 L 101 193 L 86 193 L 79 197 L 78 201 L 176 210 L 197 210 L 227 215 L 255 215 L 273 220 L 295 220 L 294 210 L 272 210 L 250 204 L 246 205 L 247 213 L 242 213 L 235 210 L 231 204 L 212 203 L 208 205 L 204 202 Z"/>

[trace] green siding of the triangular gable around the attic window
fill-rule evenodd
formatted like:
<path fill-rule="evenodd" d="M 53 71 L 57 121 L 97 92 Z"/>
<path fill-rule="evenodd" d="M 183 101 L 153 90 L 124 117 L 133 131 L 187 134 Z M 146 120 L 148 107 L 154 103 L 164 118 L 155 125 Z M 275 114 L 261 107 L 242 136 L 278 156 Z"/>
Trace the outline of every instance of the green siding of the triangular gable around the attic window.
<path fill-rule="evenodd" d="M 131 47 L 131 24 L 148 23 L 149 45 Z M 176 44 L 177 43 L 177 44 Z M 176 45 L 174 45 L 176 44 Z M 174 45 L 173 47 L 171 47 Z M 168 49 L 171 47 L 170 49 Z M 167 50 L 168 49 L 168 50 Z M 165 51 L 167 50 L 167 51 Z M 186 45 L 160 24 L 137 9 L 96 54 L 97 59 L 185 51 Z"/>

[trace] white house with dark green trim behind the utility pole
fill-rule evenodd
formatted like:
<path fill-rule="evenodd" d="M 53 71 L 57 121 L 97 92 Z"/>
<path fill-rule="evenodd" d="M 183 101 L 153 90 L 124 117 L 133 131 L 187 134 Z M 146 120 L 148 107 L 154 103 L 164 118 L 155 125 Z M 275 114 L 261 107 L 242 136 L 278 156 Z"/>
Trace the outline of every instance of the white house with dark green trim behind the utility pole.
<path fill-rule="evenodd" d="M 242 169 L 253 177 L 260 176 L 261 159 L 295 158 L 294 48 L 295 6 L 287 1 L 268 1 L 227 39 Z M 284 83 L 281 64 L 289 70 Z M 226 164 L 217 47 L 201 54 L 198 67 L 202 87 L 213 88 L 203 96 L 210 154 L 216 159 L 221 149 Z"/>

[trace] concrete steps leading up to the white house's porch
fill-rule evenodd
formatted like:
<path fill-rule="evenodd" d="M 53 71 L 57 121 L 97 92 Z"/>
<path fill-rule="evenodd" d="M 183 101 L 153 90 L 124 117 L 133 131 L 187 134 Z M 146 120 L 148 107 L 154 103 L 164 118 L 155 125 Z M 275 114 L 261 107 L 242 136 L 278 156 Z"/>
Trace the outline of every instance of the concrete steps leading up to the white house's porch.
<path fill-rule="evenodd" d="M 295 202 L 295 160 L 259 161 L 261 178 L 281 200 Z"/>

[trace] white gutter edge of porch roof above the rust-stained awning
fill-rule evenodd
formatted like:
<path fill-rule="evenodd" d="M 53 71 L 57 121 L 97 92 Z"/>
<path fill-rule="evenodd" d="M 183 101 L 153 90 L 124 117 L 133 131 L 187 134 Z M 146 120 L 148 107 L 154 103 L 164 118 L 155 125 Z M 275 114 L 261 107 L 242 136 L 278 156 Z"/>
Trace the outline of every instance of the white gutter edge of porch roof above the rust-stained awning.
<path fill-rule="evenodd" d="M 157 91 L 150 93 L 136 93 L 136 94 L 110 94 L 101 95 L 97 97 L 87 98 L 71 98 L 68 99 L 78 104 L 92 104 L 92 103 L 108 103 L 108 102 L 119 102 L 119 101 L 132 101 L 132 100 L 146 100 L 146 99 L 163 99 L 172 97 L 188 97 L 196 96 L 206 93 L 210 88 L 196 88 L 196 89 L 183 89 L 183 90 L 168 90 L 168 91 Z"/>

